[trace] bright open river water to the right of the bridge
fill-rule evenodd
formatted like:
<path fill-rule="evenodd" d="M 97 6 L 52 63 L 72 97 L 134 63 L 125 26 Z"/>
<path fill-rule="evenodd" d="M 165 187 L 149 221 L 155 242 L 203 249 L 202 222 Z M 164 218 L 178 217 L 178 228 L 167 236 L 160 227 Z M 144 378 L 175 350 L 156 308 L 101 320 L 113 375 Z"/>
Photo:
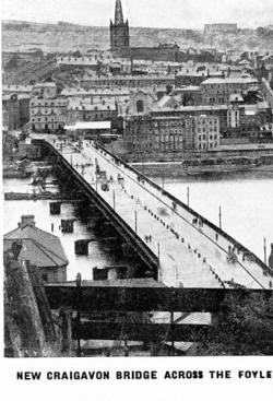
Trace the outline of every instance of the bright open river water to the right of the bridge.
<path fill-rule="evenodd" d="M 161 181 L 157 180 L 159 184 Z M 219 174 L 166 180 L 164 188 L 264 260 L 273 243 L 273 175 Z"/>

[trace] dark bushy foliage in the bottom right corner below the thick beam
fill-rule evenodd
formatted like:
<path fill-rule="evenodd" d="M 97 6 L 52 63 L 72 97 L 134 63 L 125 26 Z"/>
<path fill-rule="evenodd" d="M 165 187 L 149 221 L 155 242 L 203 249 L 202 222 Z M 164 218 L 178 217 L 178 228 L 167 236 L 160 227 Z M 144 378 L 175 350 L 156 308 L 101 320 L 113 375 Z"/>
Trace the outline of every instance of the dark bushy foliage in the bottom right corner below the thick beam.
<path fill-rule="evenodd" d="M 273 355 L 273 296 L 228 295 L 199 355 Z"/>

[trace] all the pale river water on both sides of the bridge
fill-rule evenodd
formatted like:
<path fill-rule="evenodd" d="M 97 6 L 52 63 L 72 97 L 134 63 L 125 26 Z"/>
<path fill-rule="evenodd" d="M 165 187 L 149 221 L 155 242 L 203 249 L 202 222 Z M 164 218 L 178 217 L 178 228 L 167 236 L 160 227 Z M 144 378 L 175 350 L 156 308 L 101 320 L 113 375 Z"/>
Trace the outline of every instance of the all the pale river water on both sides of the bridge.
<path fill-rule="evenodd" d="M 158 184 L 161 180 L 155 179 Z M 31 179 L 4 179 L 5 192 L 32 191 Z M 187 187 L 190 193 L 190 207 L 211 222 L 218 224 L 218 209 L 222 208 L 222 227 L 238 241 L 251 249 L 263 260 L 263 238 L 266 238 L 268 255 L 273 243 L 273 176 L 222 174 L 217 176 L 192 176 L 179 179 L 166 179 L 164 187 L 178 199 L 187 203 Z M 51 188 L 50 190 L 55 190 Z M 94 267 L 124 264 L 115 252 L 106 250 L 98 241 L 90 244 L 87 257 L 74 255 L 74 240 L 94 237 L 81 221 L 74 223 L 73 234 L 59 231 L 61 219 L 74 217 L 72 204 L 63 203 L 61 214 L 49 214 L 49 201 L 5 201 L 3 207 L 3 232 L 17 226 L 22 214 L 34 214 L 37 227 L 59 236 L 67 257 L 68 280 L 74 280 L 81 272 L 85 280 L 92 279 Z"/>

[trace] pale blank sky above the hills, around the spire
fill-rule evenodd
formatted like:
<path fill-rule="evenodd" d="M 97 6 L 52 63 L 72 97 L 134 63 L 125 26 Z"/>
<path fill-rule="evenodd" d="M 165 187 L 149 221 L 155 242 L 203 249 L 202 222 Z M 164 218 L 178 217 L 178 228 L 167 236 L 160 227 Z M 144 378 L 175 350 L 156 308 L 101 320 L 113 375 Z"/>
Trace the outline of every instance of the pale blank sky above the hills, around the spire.
<path fill-rule="evenodd" d="M 1 0 L 3 20 L 66 21 L 108 25 L 116 0 Z M 203 27 L 237 22 L 240 27 L 273 24 L 273 0 L 122 0 L 131 26 Z"/>

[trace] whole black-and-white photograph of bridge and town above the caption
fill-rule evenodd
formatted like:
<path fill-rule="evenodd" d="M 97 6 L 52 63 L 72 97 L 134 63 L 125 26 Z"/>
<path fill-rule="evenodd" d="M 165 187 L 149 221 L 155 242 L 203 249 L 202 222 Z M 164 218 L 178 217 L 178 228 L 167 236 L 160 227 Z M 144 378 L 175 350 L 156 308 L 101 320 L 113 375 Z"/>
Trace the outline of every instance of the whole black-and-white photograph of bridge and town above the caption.
<path fill-rule="evenodd" d="M 1 2 L 2 358 L 273 356 L 272 0 Z"/>

